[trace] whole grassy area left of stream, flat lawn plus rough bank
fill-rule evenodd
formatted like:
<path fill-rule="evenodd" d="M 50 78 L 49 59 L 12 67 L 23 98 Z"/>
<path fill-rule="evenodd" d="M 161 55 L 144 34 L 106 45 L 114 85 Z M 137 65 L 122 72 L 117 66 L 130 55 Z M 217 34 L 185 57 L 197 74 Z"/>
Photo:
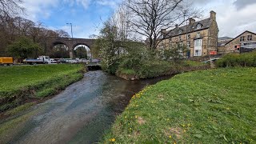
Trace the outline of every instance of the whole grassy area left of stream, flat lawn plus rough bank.
<path fill-rule="evenodd" d="M 6 66 L 0 68 L 0 111 L 30 99 L 57 94 L 82 78 L 83 65 Z"/>

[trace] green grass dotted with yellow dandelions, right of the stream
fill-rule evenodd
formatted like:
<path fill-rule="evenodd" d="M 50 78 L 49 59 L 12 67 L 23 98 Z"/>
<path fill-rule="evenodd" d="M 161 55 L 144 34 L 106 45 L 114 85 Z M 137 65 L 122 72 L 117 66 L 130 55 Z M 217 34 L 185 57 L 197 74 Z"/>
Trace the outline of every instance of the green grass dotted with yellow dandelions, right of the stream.
<path fill-rule="evenodd" d="M 255 143 L 256 68 L 178 74 L 134 95 L 102 143 Z"/>

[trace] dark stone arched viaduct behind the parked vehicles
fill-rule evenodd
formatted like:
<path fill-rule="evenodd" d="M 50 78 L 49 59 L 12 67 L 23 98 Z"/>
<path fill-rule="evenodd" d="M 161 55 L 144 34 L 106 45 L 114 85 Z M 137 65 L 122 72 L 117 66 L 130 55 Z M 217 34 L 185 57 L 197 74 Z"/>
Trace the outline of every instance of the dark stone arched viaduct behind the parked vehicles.
<path fill-rule="evenodd" d="M 58 44 L 64 44 L 68 47 L 70 52 L 70 58 L 74 58 L 74 48 L 78 45 L 88 46 L 89 49 L 93 46 L 96 39 L 86 39 L 86 38 L 56 38 L 53 42 L 53 47 Z"/>

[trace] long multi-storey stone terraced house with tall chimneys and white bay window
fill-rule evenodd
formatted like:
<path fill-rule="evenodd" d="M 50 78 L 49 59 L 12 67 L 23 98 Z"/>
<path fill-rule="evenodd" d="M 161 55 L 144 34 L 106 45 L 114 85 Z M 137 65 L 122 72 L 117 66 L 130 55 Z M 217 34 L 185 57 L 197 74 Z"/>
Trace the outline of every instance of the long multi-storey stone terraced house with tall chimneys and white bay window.
<path fill-rule="evenodd" d="M 195 22 L 189 19 L 186 26 L 177 26 L 173 30 L 163 29 L 162 42 L 158 49 L 171 48 L 174 45 L 187 46 L 188 57 L 205 57 L 217 51 L 218 48 L 218 24 L 216 13 L 210 11 L 210 18 Z"/>

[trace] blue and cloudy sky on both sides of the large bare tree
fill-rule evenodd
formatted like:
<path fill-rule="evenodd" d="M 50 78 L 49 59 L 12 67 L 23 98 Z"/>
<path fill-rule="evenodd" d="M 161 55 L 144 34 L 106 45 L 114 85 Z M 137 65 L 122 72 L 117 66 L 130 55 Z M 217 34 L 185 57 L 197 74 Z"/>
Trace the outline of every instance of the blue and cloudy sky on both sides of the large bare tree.
<path fill-rule="evenodd" d="M 71 22 L 74 38 L 98 34 L 102 22 L 114 13 L 122 0 L 24 0 L 26 18 L 44 26 L 66 30 Z M 236 37 L 245 30 L 256 32 L 256 0 L 188 0 L 203 10 L 202 18 L 217 13 L 219 37 Z M 71 34 L 70 34 L 71 35 Z"/>

